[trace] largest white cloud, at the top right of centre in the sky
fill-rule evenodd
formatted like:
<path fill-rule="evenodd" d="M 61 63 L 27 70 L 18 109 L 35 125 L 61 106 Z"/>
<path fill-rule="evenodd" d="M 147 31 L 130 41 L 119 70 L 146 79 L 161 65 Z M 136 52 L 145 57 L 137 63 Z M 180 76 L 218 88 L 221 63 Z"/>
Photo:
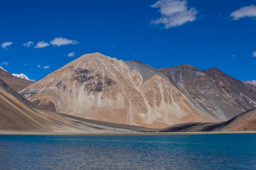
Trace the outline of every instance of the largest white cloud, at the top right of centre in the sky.
<path fill-rule="evenodd" d="M 187 4 L 186 0 L 158 0 L 150 7 L 159 8 L 161 18 L 151 21 L 151 24 L 164 24 L 164 28 L 169 29 L 194 21 L 198 11 L 195 8 L 188 9 Z"/>

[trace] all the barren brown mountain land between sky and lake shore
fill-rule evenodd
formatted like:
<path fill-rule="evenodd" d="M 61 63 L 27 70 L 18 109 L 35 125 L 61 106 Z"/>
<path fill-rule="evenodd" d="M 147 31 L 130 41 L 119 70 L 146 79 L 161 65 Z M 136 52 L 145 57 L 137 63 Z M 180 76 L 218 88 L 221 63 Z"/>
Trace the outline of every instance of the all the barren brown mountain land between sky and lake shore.
<path fill-rule="evenodd" d="M 0 79 L 1 130 L 256 130 L 255 86 L 218 68 L 155 69 L 92 53 L 34 83 L 1 69 Z"/>

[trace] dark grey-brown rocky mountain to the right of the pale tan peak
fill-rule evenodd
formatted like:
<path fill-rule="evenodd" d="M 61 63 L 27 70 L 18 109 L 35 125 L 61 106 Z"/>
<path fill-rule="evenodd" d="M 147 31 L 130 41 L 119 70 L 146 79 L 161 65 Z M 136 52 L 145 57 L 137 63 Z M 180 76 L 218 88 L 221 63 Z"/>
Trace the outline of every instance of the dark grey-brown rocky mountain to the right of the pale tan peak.
<path fill-rule="evenodd" d="M 158 69 L 191 101 L 195 106 L 204 110 L 206 113 L 214 113 L 221 117 L 221 121 L 227 121 L 234 116 L 254 108 L 256 95 L 249 95 L 247 90 L 255 93 L 255 88 L 243 88 L 236 91 L 232 86 L 243 84 L 229 83 L 222 86 L 223 81 L 229 82 L 231 76 L 221 74 L 217 77 L 210 76 L 216 70 L 200 71 L 190 65 L 175 66 L 170 68 Z M 230 77 L 230 79 L 226 79 Z M 216 78 L 216 79 L 215 79 Z M 232 78 L 233 80 L 234 78 Z"/>

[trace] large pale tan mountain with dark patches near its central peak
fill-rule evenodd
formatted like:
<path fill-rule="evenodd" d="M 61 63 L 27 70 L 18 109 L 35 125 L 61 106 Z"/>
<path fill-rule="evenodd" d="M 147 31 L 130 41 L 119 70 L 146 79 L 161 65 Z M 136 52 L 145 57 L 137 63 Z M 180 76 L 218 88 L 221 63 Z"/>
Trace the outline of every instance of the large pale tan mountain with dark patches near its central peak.
<path fill-rule="evenodd" d="M 134 126 L 164 128 L 222 119 L 195 107 L 150 66 L 100 53 L 79 57 L 21 94 L 47 110 Z"/>

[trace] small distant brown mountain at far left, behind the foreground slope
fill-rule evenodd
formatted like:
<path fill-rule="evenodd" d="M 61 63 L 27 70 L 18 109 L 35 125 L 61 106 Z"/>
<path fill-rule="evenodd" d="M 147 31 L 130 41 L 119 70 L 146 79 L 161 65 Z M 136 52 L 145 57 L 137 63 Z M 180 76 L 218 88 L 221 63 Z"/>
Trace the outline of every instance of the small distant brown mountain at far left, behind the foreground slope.
<path fill-rule="evenodd" d="M 19 92 L 22 89 L 29 86 L 30 84 L 34 83 L 34 82 L 32 82 L 30 80 L 27 80 L 27 79 L 22 79 L 20 77 L 15 77 L 2 67 L 0 69 L 0 79 L 2 79 L 6 84 L 8 84 L 8 86 L 10 86 L 16 92 Z"/>

